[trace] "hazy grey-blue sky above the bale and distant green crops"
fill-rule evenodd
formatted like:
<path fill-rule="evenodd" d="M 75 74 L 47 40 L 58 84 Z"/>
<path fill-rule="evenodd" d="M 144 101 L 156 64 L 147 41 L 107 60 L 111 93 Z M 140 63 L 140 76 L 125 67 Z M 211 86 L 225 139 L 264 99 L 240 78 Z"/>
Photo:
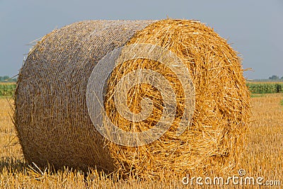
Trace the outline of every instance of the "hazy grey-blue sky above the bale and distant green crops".
<path fill-rule="evenodd" d="M 30 42 L 83 20 L 184 18 L 207 23 L 243 56 L 248 79 L 283 76 L 283 1 L 0 0 L 0 76 L 18 74 Z"/>

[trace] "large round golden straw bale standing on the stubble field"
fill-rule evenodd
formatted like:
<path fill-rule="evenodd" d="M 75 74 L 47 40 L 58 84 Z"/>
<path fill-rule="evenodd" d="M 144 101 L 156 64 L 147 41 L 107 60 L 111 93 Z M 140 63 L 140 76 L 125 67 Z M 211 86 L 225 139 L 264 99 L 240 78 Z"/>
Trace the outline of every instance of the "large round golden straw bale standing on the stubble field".
<path fill-rule="evenodd" d="M 141 99 L 147 97 L 154 105 L 152 114 L 141 122 L 122 118 L 112 93 L 131 71 L 152 69 L 163 74 L 177 101 L 175 120 L 166 133 L 150 144 L 126 147 L 103 138 L 93 126 L 86 91 L 100 59 L 117 47 L 137 43 L 158 45 L 178 55 L 195 86 L 195 111 L 187 130 L 177 136 L 185 100 L 173 71 L 150 59 L 120 64 L 108 78 L 104 98 L 106 114 L 117 127 L 148 130 L 163 111 L 161 93 L 139 84 L 127 94 L 129 110 L 141 112 Z M 171 19 L 83 21 L 54 30 L 29 53 L 18 77 L 15 104 L 16 130 L 29 162 L 139 176 L 231 170 L 250 116 L 249 92 L 237 52 L 206 25 Z"/>

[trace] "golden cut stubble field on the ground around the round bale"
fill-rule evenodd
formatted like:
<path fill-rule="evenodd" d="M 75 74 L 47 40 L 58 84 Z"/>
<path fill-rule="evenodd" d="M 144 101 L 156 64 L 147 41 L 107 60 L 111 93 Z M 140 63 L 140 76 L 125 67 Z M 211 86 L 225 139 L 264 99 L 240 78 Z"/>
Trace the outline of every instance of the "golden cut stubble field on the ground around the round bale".
<path fill-rule="evenodd" d="M 262 176 L 266 180 L 283 182 L 283 100 L 282 94 L 268 94 L 252 98 L 253 122 L 246 137 L 243 156 L 238 168 L 247 176 Z M 112 181 L 93 171 L 39 170 L 24 164 L 16 131 L 9 117 L 11 109 L 6 99 L 0 99 L 0 188 L 183 188 L 180 178 L 162 178 L 155 181 Z M 34 170 L 33 170 L 34 169 Z M 195 176 L 200 176 L 195 173 Z M 195 186 L 195 185 L 194 185 Z M 243 186 L 239 185 L 238 188 Z M 277 187 L 279 188 L 279 186 Z"/>

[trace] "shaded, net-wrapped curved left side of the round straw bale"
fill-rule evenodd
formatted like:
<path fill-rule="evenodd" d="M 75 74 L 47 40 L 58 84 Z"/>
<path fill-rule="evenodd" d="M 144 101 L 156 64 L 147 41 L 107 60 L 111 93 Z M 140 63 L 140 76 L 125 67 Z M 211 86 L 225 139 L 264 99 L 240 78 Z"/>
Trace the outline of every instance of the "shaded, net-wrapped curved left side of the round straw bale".
<path fill-rule="evenodd" d="M 89 118 L 88 77 L 108 52 L 153 21 L 82 21 L 35 45 L 18 77 L 16 130 L 25 159 L 55 168 L 113 171 L 108 147 Z"/>

